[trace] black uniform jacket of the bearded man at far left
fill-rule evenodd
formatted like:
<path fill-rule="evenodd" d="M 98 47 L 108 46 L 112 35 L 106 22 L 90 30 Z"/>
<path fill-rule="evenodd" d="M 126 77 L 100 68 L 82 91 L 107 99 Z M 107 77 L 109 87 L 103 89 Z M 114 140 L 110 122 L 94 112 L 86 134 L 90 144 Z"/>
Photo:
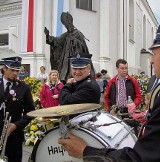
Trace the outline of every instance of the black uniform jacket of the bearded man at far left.
<path fill-rule="evenodd" d="M 11 116 L 11 123 L 14 123 L 17 126 L 17 129 L 12 132 L 17 137 L 17 140 L 23 140 L 23 129 L 27 126 L 32 119 L 26 114 L 34 110 L 33 99 L 31 95 L 30 88 L 27 84 L 22 81 L 17 81 L 11 87 L 12 90 L 16 93 L 15 101 L 11 94 L 5 99 L 4 97 L 4 84 L 3 79 L 0 79 L 0 132 L 3 127 L 4 119 L 4 109 L 2 104 L 5 102 L 6 112 L 9 112 Z M 10 136 L 9 136 L 10 137 Z"/>

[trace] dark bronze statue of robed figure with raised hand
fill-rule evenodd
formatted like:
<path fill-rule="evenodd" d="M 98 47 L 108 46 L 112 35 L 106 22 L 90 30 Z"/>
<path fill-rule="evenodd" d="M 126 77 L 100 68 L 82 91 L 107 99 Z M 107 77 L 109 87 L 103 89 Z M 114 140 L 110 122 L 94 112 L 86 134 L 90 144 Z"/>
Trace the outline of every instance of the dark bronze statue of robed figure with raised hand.
<path fill-rule="evenodd" d="M 51 69 L 59 71 L 60 79 L 67 80 L 70 77 L 70 64 L 68 57 L 78 53 L 89 53 L 85 36 L 73 25 L 72 15 L 62 12 L 61 22 L 66 27 L 67 32 L 60 37 L 49 35 L 49 30 L 45 27 L 46 44 L 50 45 Z"/>

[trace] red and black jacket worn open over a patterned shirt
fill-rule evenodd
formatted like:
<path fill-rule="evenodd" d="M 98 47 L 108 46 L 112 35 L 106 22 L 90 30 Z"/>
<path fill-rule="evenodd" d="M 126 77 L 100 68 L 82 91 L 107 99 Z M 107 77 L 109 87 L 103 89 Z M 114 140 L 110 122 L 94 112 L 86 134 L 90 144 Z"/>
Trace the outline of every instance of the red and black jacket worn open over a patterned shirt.
<path fill-rule="evenodd" d="M 108 111 L 110 110 L 110 107 L 112 105 L 116 105 L 116 89 L 117 89 L 116 78 L 117 78 L 117 75 L 108 82 L 108 85 L 106 88 L 105 106 Z M 127 98 L 128 96 L 131 96 L 136 106 L 138 106 L 142 101 L 142 95 L 140 92 L 138 81 L 135 78 L 128 75 L 125 85 L 126 85 Z"/>

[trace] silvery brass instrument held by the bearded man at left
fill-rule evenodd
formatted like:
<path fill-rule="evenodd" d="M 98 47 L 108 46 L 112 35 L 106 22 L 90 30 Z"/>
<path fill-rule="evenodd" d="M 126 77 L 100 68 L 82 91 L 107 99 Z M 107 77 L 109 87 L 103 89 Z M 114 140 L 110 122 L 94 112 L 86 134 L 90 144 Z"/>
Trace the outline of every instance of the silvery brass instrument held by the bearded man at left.
<path fill-rule="evenodd" d="M 8 159 L 5 156 L 5 148 L 6 148 L 6 143 L 7 143 L 7 138 L 8 138 L 8 129 L 9 129 L 9 125 L 11 122 L 11 117 L 9 117 L 9 112 L 6 112 L 6 116 L 5 116 L 5 120 L 4 120 L 4 125 L 3 125 L 3 130 L 2 130 L 2 134 L 0 137 L 0 162 L 7 162 Z"/>

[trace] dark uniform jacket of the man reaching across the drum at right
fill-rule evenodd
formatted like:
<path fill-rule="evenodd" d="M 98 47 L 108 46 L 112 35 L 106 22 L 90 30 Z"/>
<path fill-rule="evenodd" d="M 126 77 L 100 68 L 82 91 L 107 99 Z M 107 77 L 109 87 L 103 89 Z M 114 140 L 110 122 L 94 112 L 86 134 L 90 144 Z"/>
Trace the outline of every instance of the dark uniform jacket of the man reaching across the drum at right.
<path fill-rule="evenodd" d="M 160 84 L 159 84 L 160 86 Z M 152 97 L 152 96 L 151 96 Z M 96 149 L 87 146 L 83 152 L 84 157 L 92 156 L 89 159 L 94 162 L 94 155 L 99 157 L 110 157 L 117 161 L 129 162 L 160 162 L 160 91 L 155 97 L 153 108 L 145 126 L 145 134 L 139 138 L 134 148 L 123 149 Z M 96 160 L 97 162 L 98 160 Z"/>

